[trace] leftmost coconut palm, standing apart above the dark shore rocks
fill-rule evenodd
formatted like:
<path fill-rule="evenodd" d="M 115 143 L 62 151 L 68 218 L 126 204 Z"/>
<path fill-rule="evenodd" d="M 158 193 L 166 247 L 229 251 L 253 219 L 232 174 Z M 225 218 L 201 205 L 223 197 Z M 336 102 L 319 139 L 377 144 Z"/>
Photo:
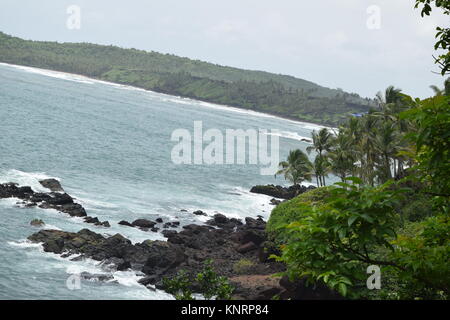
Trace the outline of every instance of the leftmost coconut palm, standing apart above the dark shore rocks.
<path fill-rule="evenodd" d="M 300 149 L 291 150 L 286 161 L 282 161 L 278 165 L 280 170 L 275 174 L 284 175 L 286 180 L 289 180 L 294 185 L 300 184 L 303 181 L 311 181 L 312 179 L 312 164 L 308 156 Z"/>

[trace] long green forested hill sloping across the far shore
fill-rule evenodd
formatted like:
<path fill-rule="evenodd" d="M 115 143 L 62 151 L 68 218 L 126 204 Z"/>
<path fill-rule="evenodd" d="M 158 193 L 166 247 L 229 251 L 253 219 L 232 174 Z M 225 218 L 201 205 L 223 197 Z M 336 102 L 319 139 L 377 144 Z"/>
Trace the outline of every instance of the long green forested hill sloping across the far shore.
<path fill-rule="evenodd" d="M 291 76 L 115 46 L 27 41 L 1 32 L 0 61 L 333 126 L 372 105 L 357 94 Z"/>

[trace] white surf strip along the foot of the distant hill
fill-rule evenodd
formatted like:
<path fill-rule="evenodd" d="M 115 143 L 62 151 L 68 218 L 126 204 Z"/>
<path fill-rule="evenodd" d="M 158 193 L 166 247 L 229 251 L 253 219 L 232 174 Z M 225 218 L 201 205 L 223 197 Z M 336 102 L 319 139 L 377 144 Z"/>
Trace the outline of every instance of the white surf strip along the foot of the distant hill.
<path fill-rule="evenodd" d="M 91 84 L 92 83 L 101 83 L 101 84 L 111 85 L 111 86 L 115 86 L 115 87 L 119 87 L 119 88 L 123 88 L 123 89 L 129 89 L 129 90 L 132 89 L 132 90 L 148 92 L 148 93 L 152 93 L 152 94 L 158 94 L 158 95 L 165 96 L 167 98 L 178 99 L 179 103 L 182 103 L 181 101 L 191 102 L 193 104 L 196 104 L 200 107 L 205 107 L 205 108 L 228 110 L 228 111 L 232 111 L 232 112 L 244 113 L 244 114 L 253 115 L 253 116 L 257 116 L 257 117 L 285 120 L 285 121 L 291 122 L 293 124 L 299 124 L 306 128 L 310 128 L 311 130 L 320 130 L 322 128 L 328 128 L 331 130 L 337 129 L 335 127 L 326 126 L 326 125 L 323 125 L 320 123 L 296 120 L 296 119 L 293 119 L 288 116 L 275 115 L 275 114 L 265 113 L 265 112 L 261 112 L 261 111 L 254 111 L 254 110 L 235 107 L 235 106 L 229 106 L 229 105 L 217 104 L 217 103 L 199 100 L 199 99 L 193 99 L 193 98 L 189 98 L 189 97 L 171 95 L 171 94 L 164 93 L 164 92 L 158 92 L 158 91 L 154 91 L 154 90 L 144 89 L 139 86 L 133 86 L 130 84 L 123 84 L 123 83 L 119 83 L 119 82 L 105 81 L 100 78 L 88 77 L 88 76 L 78 74 L 78 73 L 68 73 L 68 72 L 62 72 L 62 71 L 53 70 L 53 69 L 43 69 L 43 68 L 38 68 L 38 67 L 32 67 L 32 66 L 27 66 L 27 65 L 18 65 L 18 64 L 12 64 L 12 63 L 6 63 L 6 62 L 0 62 L 0 66 L 12 67 L 12 68 L 20 69 L 20 70 L 23 70 L 26 72 L 38 73 L 40 75 L 53 77 L 53 78 L 59 78 L 62 80 L 67 80 L 67 81 L 75 81 L 75 82 L 91 83 Z M 54 75 L 51 75 L 49 73 L 54 73 Z M 55 77 L 55 75 L 59 75 L 59 77 L 58 76 Z M 75 79 L 74 77 L 77 77 L 78 79 Z M 72 78 L 72 79 L 70 79 L 70 78 Z M 173 101 L 173 102 L 176 102 L 176 101 Z"/>

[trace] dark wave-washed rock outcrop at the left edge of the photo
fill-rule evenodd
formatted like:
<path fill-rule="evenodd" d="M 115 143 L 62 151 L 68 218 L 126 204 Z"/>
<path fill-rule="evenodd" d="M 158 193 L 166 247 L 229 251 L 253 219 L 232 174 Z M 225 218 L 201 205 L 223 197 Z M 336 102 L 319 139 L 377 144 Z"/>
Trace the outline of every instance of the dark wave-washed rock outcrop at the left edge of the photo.
<path fill-rule="evenodd" d="M 59 184 L 59 182 L 58 182 Z M 53 185 L 55 187 L 55 185 Z M 87 215 L 86 210 L 67 193 L 60 192 L 34 192 L 29 186 L 19 187 L 16 183 L 0 184 L 1 198 L 18 198 L 25 207 L 39 207 L 42 209 L 55 209 L 67 213 L 71 217 L 81 217 L 86 223 L 97 226 L 110 227 L 108 221 L 100 221 L 96 217 Z"/>

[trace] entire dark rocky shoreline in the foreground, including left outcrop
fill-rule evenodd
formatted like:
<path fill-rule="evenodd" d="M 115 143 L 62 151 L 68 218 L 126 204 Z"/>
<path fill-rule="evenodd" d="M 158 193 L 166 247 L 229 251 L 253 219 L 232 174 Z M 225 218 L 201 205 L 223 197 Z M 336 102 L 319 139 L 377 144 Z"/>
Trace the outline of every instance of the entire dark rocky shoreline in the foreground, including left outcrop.
<path fill-rule="evenodd" d="M 41 184 L 48 185 L 48 182 Z M 70 216 L 83 217 L 87 223 L 109 226 L 108 221 L 100 222 L 89 217 L 80 204 L 63 193 L 62 188 L 59 192 L 36 193 L 30 187 L 0 184 L 0 198 L 11 197 L 21 199 L 25 207 L 52 208 Z M 95 222 L 90 222 L 95 219 Z M 162 223 L 162 219 L 159 220 L 157 222 Z M 138 219 L 132 223 L 123 220 L 119 224 L 147 231 L 154 229 L 156 222 Z M 203 269 L 206 261 L 212 260 L 216 272 L 227 277 L 235 288 L 233 299 L 268 300 L 275 296 L 281 299 L 338 298 L 327 288 L 309 286 L 302 280 L 290 282 L 286 277 L 275 276 L 285 271 L 285 266 L 269 259 L 270 254 L 277 252 L 268 241 L 266 222 L 261 217 L 247 217 L 241 221 L 216 214 L 204 225 L 184 225 L 181 231 L 169 230 L 171 226 L 165 226 L 162 231 L 167 241 L 145 240 L 133 244 L 121 234 L 104 236 L 89 229 L 76 233 L 40 230 L 30 235 L 28 240 L 41 243 L 46 252 L 71 260 L 90 258 L 101 262 L 101 266 L 110 271 L 133 270 L 143 275 L 139 282 L 150 290 L 163 290 L 163 278 L 172 277 L 180 270 L 196 274 Z M 175 224 L 172 227 L 178 226 Z M 76 257 L 73 258 L 73 255 Z M 83 274 L 82 278 L 110 281 L 112 277 Z M 195 283 L 192 286 L 195 292 Z"/>

